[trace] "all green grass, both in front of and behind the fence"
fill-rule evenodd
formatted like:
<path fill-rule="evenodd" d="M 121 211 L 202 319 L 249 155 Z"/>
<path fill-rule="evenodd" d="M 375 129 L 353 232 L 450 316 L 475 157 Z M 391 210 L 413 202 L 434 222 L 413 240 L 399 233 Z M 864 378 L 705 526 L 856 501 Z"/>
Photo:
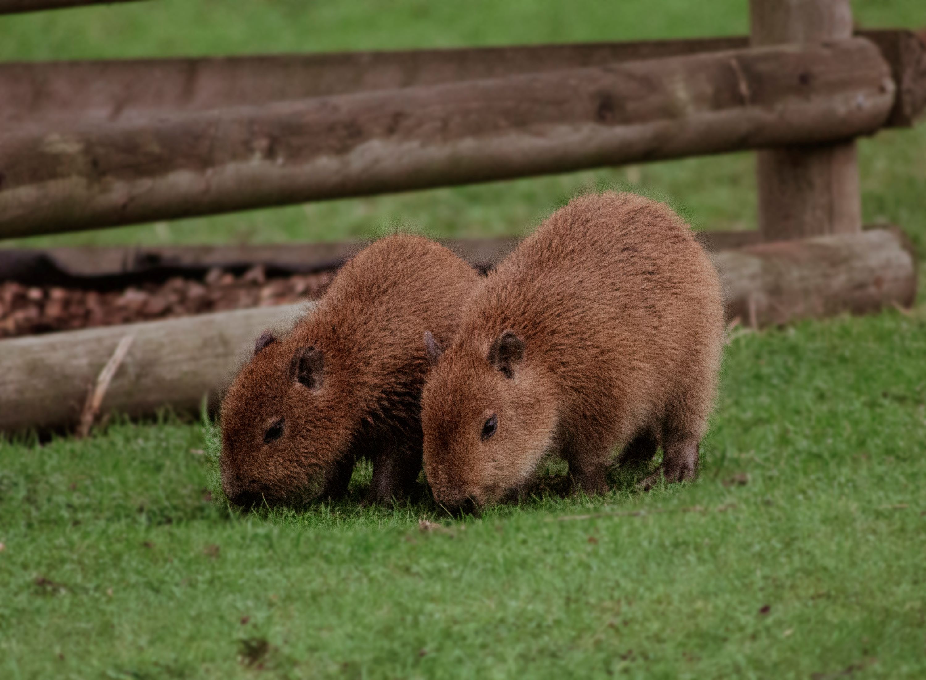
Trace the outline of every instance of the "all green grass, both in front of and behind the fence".
<path fill-rule="evenodd" d="M 745 2 L 163 0 L 0 18 L 0 59 L 745 31 Z M 921 0 L 854 3 L 926 25 Z M 620 188 L 755 224 L 750 155 L 109 229 L 26 243 L 524 233 Z M 869 221 L 926 253 L 926 124 L 861 142 Z M 926 274 L 926 271 L 921 269 Z M 922 280 L 922 279 L 921 279 Z M 920 300 L 926 287 L 920 285 Z M 926 676 L 926 305 L 727 348 L 693 484 L 481 518 L 425 505 L 230 511 L 208 422 L 0 442 L 0 677 Z M 544 488 L 557 488 L 551 465 Z M 355 495 L 369 479 L 358 469 Z M 589 516 L 593 515 L 593 516 Z M 440 523 L 422 531 L 421 518 Z M 569 518 L 569 519 L 563 519 Z"/>

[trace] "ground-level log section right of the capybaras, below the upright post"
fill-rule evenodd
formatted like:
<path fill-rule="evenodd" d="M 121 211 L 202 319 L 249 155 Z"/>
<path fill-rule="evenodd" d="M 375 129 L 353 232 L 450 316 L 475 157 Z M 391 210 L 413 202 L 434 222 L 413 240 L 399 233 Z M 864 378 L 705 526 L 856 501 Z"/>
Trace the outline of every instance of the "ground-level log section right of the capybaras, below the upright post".
<path fill-rule="evenodd" d="M 913 304 L 917 263 L 900 229 L 819 236 L 711 254 L 728 320 L 785 324 Z"/>

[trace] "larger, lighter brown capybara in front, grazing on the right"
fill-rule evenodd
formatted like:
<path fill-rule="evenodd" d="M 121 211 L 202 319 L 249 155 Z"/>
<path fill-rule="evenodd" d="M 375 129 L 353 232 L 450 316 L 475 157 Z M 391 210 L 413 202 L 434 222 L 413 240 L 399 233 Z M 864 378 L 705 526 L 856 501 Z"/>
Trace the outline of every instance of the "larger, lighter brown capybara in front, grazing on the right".
<path fill-rule="evenodd" d="M 421 417 L 435 499 L 504 499 L 548 452 L 577 488 L 606 490 L 612 451 L 651 459 L 658 442 L 646 484 L 693 477 L 722 323 L 717 274 L 669 208 L 610 192 L 572 201 L 489 274 L 432 358 Z"/>

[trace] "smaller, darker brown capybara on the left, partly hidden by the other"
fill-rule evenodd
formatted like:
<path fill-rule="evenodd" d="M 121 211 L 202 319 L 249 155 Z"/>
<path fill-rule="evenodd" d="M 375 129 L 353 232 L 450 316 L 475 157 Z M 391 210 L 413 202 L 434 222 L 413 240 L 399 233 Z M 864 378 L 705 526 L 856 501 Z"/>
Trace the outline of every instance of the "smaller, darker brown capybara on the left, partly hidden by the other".
<path fill-rule="evenodd" d="M 245 505 L 336 497 L 360 456 L 373 461 L 371 501 L 407 494 L 421 466 L 421 337 L 452 338 L 478 278 L 438 243 L 389 237 L 344 265 L 289 337 L 257 339 L 222 404 L 225 494 Z M 265 441 L 280 418 L 280 438 Z"/>

